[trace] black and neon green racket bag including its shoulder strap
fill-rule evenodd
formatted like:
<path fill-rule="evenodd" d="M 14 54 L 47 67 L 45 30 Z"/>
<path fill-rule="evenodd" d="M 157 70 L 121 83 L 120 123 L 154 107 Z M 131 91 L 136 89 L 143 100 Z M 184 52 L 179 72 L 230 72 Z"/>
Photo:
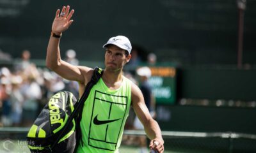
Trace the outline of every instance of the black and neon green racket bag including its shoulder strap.
<path fill-rule="evenodd" d="M 32 153 L 74 152 L 81 138 L 79 123 L 84 101 L 102 74 L 98 67 L 93 70 L 92 80 L 79 101 L 68 91 L 60 91 L 49 99 L 28 132 L 28 147 Z"/>

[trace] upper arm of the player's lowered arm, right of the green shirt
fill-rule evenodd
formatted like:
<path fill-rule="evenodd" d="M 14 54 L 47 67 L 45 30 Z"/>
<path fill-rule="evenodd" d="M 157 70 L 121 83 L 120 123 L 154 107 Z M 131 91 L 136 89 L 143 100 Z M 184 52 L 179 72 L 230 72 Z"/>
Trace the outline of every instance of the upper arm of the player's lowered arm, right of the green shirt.
<path fill-rule="evenodd" d="M 152 119 L 145 105 L 143 94 L 135 84 L 132 84 L 132 108 L 143 125 L 147 124 L 147 122 Z"/>

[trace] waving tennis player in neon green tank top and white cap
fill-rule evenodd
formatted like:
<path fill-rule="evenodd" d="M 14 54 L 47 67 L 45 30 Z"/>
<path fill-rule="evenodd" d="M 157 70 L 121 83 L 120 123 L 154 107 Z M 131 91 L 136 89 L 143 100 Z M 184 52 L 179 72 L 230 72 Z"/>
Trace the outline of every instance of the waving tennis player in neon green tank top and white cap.
<path fill-rule="evenodd" d="M 63 78 L 79 82 L 81 96 L 93 75 L 93 69 L 62 61 L 59 47 L 61 35 L 73 22 L 73 13 L 70 6 L 63 6 L 61 11 L 56 11 L 47 47 L 46 66 Z M 164 141 L 159 125 L 148 112 L 138 86 L 122 75 L 123 67 L 131 59 L 130 41 L 125 36 L 116 36 L 110 38 L 103 47 L 106 49 L 105 69 L 84 103 L 77 152 L 118 152 L 125 120 L 132 106 L 150 139 L 150 149 L 162 153 Z"/>

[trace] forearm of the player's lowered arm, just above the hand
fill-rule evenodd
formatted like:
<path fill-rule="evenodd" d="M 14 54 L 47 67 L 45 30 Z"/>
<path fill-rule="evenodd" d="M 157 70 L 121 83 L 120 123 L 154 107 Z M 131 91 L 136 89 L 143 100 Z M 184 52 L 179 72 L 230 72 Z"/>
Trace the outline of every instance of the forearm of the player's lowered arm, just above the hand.
<path fill-rule="evenodd" d="M 144 126 L 145 133 L 147 134 L 148 138 L 150 140 L 158 139 L 164 143 L 164 140 L 162 138 L 161 129 L 159 125 L 157 124 L 156 120 L 151 119 L 148 121 L 148 125 Z"/>

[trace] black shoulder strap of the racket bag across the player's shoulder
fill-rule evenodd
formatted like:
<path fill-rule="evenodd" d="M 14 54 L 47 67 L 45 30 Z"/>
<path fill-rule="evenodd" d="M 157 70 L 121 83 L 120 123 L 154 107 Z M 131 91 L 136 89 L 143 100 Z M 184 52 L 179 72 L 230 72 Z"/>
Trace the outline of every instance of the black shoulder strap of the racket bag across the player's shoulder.
<path fill-rule="evenodd" d="M 92 79 L 90 80 L 90 82 L 88 82 L 88 84 L 86 85 L 83 95 L 81 96 L 81 98 L 79 99 L 79 101 L 74 105 L 74 111 L 71 113 L 70 117 L 67 120 L 67 123 L 65 124 L 65 126 L 63 127 L 62 132 L 60 133 L 60 135 L 58 136 L 58 138 L 56 139 L 56 141 L 53 143 L 53 145 L 51 146 L 51 151 L 52 149 L 54 149 L 54 147 L 56 146 L 56 144 L 60 141 L 60 139 L 63 136 L 63 133 L 65 133 L 65 131 L 67 130 L 68 125 L 72 122 L 72 120 L 77 117 L 79 112 L 82 112 L 83 110 L 83 105 L 84 105 L 84 101 L 86 101 L 86 99 L 88 98 L 89 94 L 90 94 L 90 90 L 92 89 L 93 85 L 97 84 L 97 82 L 100 80 L 100 77 L 102 77 L 103 75 L 103 71 L 101 68 L 99 67 L 95 67 L 93 69 L 93 75 L 92 75 Z M 79 115 L 81 116 L 81 115 Z M 81 119 L 80 119 L 81 120 Z M 79 125 L 76 125 L 76 127 Z M 77 129 L 77 128 L 76 128 Z M 78 143 L 78 142 L 77 142 Z"/>

